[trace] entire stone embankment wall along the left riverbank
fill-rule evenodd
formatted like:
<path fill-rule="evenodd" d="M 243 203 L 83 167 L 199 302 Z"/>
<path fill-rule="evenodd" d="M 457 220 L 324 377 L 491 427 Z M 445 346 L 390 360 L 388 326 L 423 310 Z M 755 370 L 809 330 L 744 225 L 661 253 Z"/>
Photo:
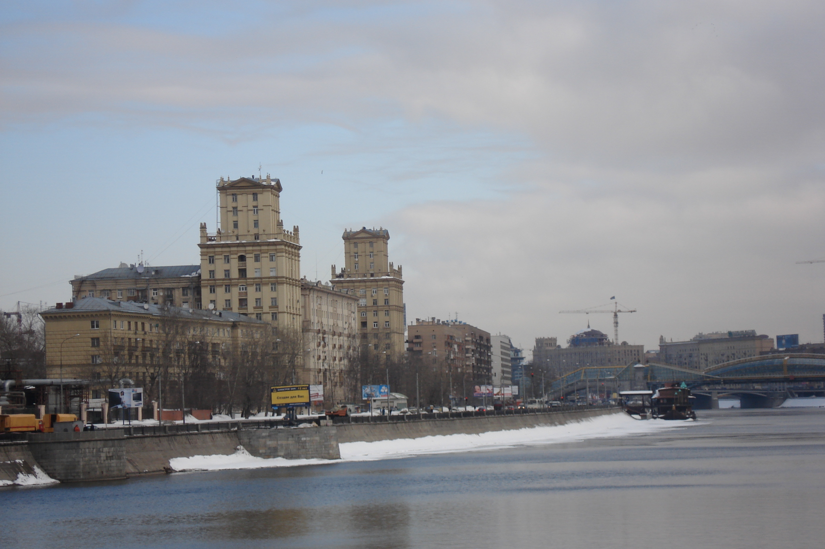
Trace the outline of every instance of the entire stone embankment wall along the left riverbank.
<path fill-rule="evenodd" d="M 35 474 L 35 466 L 53 479 L 71 482 L 168 471 L 169 460 L 174 457 L 229 455 L 238 446 L 257 457 L 338 459 L 341 457 L 339 443 L 560 425 L 616 411 L 615 408 L 566 409 L 472 417 L 429 414 L 426 419 L 393 416 L 389 421 L 386 417 L 376 417 L 366 423 L 341 418 L 343 422 L 329 425 L 322 421 L 319 423 L 324 425 L 315 428 L 285 428 L 281 422 L 263 420 L 31 433 L 26 440 L 0 442 L 0 485 L 4 480 L 14 481 L 21 474 Z"/>

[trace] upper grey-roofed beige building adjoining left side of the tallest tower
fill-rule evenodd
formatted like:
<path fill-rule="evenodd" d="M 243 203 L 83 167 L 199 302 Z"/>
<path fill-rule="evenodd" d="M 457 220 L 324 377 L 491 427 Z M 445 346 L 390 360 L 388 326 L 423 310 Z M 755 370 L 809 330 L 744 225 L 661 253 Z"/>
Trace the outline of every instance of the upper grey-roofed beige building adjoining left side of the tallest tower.
<path fill-rule="evenodd" d="M 76 276 L 69 283 L 74 300 L 105 297 L 200 309 L 200 265 L 151 267 L 120 263 L 120 267 Z"/>

